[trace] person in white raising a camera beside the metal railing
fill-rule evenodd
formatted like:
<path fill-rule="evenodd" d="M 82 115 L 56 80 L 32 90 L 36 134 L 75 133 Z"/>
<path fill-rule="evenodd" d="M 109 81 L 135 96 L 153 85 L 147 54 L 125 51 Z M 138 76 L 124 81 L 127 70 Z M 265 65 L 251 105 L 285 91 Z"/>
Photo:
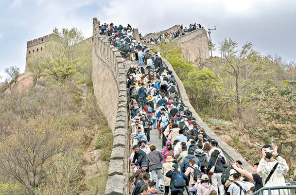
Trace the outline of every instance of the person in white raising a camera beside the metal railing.
<path fill-rule="evenodd" d="M 259 162 L 257 172 L 262 177 L 264 187 L 286 186 L 284 176 L 288 171 L 288 164 L 278 154 L 278 147 L 272 148 L 269 144 L 263 145 L 262 159 Z M 267 194 L 267 191 L 264 191 L 265 194 Z M 272 190 L 271 195 L 279 195 L 279 190 Z M 287 195 L 287 190 L 280 190 L 280 195 Z"/>

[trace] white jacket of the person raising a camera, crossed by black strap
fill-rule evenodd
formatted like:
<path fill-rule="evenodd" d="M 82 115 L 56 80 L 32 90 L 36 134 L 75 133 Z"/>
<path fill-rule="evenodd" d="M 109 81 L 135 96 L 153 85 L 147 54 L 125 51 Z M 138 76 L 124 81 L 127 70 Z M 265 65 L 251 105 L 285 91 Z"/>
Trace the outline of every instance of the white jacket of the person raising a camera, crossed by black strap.
<path fill-rule="evenodd" d="M 270 177 L 269 181 L 264 184 L 265 179 L 268 177 L 269 173 L 271 172 L 274 165 L 279 162 L 275 172 Z M 285 178 L 284 176 L 288 173 L 289 167 L 286 162 L 281 156 L 274 160 L 273 162 L 267 162 L 264 159 L 260 160 L 260 163 L 257 168 L 258 174 L 262 177 L 264 187 L 271 187 L 271 186 L 285 186 Z M 267 195 L 268 191 L 264 191 L 264 195 Z M 279 190 L 272 190 L 271 195 L 279 195 Z M 280 195 L 288 195 L 287 190 L 280 190 Z"/>

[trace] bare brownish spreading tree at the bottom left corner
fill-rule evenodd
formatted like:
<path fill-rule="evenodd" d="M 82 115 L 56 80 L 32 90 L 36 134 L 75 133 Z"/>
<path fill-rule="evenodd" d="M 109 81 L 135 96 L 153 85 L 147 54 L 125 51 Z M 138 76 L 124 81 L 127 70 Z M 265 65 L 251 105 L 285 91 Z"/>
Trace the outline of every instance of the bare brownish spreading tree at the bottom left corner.
<path fill-rule="evenodd" d="M 0 143 L 0 173 L 21 183 L 30 194 L 49 176 L 54 156 L 75 144 L 67 129 L 52 120 L 29 120 Z M 70 134 L 70 133 L 69 133 Z"/>

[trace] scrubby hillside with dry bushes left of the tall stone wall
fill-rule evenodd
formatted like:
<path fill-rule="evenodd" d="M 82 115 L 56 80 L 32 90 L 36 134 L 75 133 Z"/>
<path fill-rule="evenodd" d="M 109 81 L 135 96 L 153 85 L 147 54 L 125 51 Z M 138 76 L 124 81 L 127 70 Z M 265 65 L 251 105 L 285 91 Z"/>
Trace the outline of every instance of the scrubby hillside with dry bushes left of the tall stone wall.
<path fill-rule="evenodd" d="M 104 194 L 113 135 L 93 93 L 91 49 L 76 48 L 66 80 L 33 56 L 0 98 L 0 194 Z"/>

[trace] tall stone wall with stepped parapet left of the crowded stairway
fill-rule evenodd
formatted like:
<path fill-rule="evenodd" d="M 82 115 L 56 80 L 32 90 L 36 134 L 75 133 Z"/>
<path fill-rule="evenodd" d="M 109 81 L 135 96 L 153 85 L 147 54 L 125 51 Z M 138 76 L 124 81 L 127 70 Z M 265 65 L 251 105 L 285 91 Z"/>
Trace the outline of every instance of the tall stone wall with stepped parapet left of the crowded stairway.
<path fill-rule="evenodd" d="M 93 18 L 92 82 L 97 104 L 113 131 L 105 195 L 128 195 L 129 138 L 125 69 L 121 55 L 106 36 L 100 35 Z"/>

